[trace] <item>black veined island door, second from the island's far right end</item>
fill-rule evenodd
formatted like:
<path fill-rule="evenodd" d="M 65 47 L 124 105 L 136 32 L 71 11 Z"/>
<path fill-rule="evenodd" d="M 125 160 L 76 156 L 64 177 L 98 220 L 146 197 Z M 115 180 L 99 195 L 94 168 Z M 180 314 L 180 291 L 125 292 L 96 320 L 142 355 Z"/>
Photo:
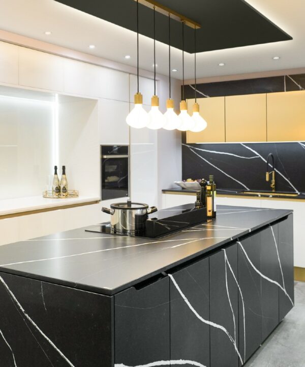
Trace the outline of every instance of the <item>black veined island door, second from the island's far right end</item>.
<path fill-rule="evenodd" d="M 262 340 L 279 324 L 279 226 L 269 226 L 261 232 L 261 301 Z"/>

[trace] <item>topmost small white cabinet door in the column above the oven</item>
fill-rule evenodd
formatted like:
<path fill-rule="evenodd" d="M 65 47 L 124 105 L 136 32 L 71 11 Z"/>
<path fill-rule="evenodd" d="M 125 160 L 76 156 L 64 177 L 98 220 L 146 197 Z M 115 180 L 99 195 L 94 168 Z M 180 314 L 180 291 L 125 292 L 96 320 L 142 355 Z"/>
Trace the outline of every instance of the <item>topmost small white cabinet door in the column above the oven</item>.
<path fill-rule="evenodd" d="M 102 98 L 129 102 L 129 74 L 99 67 Z"/>

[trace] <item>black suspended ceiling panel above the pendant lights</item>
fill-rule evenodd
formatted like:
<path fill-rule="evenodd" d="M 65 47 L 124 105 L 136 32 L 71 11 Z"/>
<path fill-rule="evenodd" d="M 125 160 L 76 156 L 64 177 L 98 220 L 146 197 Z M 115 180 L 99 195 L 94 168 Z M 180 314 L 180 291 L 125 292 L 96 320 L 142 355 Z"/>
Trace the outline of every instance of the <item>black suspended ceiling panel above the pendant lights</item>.
<path fill-rule="evenodd" d="M 55 1 L 136 32 L 134 0 Z M 198 52 L 292 39 L 244 0 L 159 0 L 159 3 L 201 24 L 197 30 Z M 168 44 L 167 16 L 156 13 L 156 27 L 157 40 Z M 153 10 L 141 4 L 139 32 L 153 38 Z M 181 49 L 181 23 L 173 19 L 171 34 L 172 46 Z M 194 30 L 189 27 L 185 27 L 185 50 L 194 53 Z"/>

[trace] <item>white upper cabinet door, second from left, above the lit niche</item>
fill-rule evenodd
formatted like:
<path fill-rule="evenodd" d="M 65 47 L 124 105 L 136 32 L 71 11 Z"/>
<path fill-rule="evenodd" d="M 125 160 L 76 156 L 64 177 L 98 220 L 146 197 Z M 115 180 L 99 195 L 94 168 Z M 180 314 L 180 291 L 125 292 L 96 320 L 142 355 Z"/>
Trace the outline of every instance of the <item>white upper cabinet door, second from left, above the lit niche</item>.
<path fill-rule="evenodd" d="M 64 61 L 59 56 L 19 47 L 19 85 L 63 91 Z"/>

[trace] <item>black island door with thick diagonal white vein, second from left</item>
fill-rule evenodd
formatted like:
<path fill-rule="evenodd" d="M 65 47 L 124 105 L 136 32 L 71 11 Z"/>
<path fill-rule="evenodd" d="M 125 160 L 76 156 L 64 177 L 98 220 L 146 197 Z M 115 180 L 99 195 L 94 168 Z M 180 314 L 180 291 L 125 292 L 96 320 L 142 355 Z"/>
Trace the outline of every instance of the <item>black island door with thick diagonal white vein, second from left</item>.
<path fill-rule="evenodd" d="M 209 367 L 209 259 L 198 260 L 169 278 L 171 364 Z"/>

